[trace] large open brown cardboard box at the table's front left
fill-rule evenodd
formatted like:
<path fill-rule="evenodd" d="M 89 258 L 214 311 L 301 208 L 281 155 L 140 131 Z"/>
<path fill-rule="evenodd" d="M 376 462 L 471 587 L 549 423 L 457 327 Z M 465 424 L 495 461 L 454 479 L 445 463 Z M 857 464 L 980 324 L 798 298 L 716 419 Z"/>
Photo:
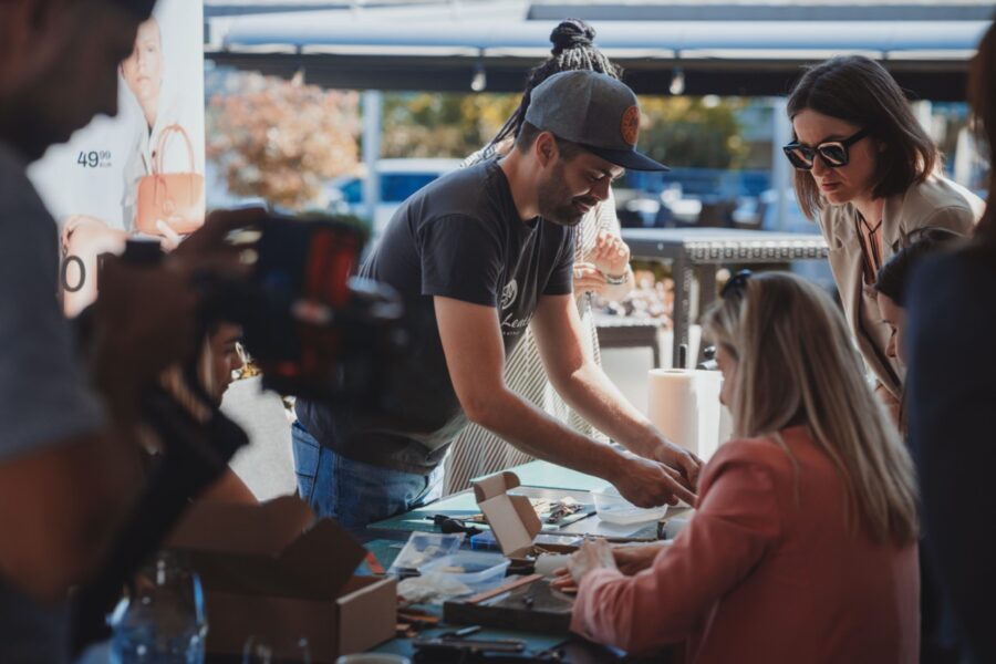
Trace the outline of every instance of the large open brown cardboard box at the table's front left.
<path fill-rule="evenodd" d="M 355 577 L 366 551 L 295 496 L 259 506 L 197 502 L 168 548 L 185 552 L 205 591 L 207 652 L 241 655 L 255 635 L 276 657 L 334 663 L 394 637 L 396 581 Z"/>

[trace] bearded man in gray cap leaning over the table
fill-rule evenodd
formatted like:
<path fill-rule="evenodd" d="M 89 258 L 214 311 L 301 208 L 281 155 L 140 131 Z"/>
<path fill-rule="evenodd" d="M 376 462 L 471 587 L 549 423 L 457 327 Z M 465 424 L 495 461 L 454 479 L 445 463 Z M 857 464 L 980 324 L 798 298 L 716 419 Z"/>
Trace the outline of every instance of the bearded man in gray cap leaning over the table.
<path fill-rule="evenodd" d="M 606 200 L 624 167 L 663 169 L 635 152 L 636 97 L 593 72 L 532 91 L 506 157 L 450 173 L 395 212 L 361 274 L 407 299 L 426 321 L 386 381 L 401 413 L 298 401 L 293 450 L 301 496 L 360 530 L 438 496 L 442 461 L 474 422 L 532 456 L 604 478 L 649 507 L 693 501 L 701 461 L 627 403 L 581 341 L 572 228 Z M 621 450 L 554 419 L 505 383 L 533 331 L 550 383 Z"/>

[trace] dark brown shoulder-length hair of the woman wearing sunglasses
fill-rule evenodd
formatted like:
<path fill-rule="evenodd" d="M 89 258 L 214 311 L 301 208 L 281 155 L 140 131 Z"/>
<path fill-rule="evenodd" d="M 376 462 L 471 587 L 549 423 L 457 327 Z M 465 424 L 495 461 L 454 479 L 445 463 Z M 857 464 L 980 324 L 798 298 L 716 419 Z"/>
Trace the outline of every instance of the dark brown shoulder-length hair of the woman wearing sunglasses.
<path fill-rule="evenodd" d="M 806 108 L 868 129 L 872 141 L 884 146 L 875 160 L 874 198 L 904 193 L 937 166 L 937 147 L 913 116 L 899 83 L 863 55 L 833 58 L 809 69 L 789 96 L 789 120 Z M 796 170 L 795 184 L 799 207 L 816 218 L 823 200 L 812 176 Z"/>

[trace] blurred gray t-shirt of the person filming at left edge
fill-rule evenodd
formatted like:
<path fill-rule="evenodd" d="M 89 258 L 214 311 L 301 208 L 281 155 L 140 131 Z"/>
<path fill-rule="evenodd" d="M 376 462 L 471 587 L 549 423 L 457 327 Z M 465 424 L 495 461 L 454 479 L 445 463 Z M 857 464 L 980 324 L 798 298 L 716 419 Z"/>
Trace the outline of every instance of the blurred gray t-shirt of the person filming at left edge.
<path fill-rule="evenodd" d="M 56 299 L 55 221 L 0 144 L 0 464 L 96 430 L 103 414 Z M 17 538 L 0 532 L 0 538 Z M 61 662 L 61 609 L 0 579 L 0 662 Z"/>

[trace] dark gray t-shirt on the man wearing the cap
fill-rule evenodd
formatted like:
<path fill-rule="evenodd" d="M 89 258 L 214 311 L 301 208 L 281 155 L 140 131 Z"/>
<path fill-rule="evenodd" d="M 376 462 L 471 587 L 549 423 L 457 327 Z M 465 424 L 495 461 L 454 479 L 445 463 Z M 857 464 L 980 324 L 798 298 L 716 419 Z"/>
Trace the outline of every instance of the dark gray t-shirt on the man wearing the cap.
<path fill-rule="evenodd" d="M 395 212 L 360 271 L 400 291 L 412 326 L 422 331 L 386 378 L 402 416 L 388 422 L 299 401 L 301 424 L 350 458 L 430 473 L 467 424 L 449 380 L 433 297 L 495 307 L 507 354 L 540 297 L 572 292 L 573 235 L 541 218 L 523 222 L 494 159 L 416 193 Z"/>

